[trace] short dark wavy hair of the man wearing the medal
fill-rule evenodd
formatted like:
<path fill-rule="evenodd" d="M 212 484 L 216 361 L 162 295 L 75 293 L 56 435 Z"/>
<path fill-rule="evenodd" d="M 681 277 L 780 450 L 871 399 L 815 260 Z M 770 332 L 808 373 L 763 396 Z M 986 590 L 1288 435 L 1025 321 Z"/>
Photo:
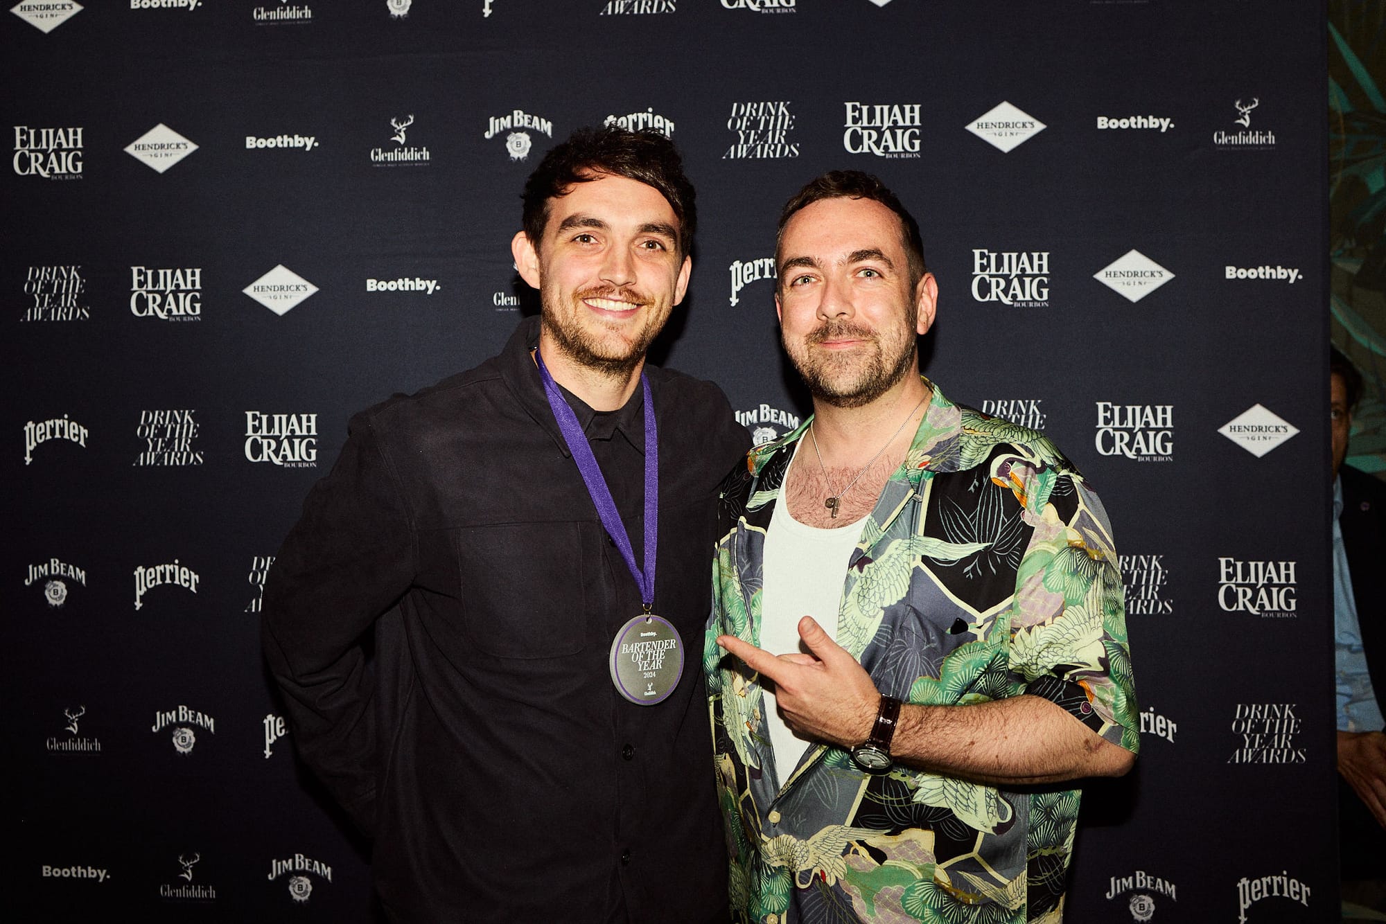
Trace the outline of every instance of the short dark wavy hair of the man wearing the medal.
<path fill-rule="evenodd" d="M 683 176 L 683 161 L 674 141 L 656 132 L 631 132 L 618 126 L 578 129 L 549 150 L 524 184 L 524 233 L 539 248 L 549 223 L 549 199 L 567 195 L 575 183 L 607 173 L 651 186 L 679 219 L 679 255 L 693 248 L 697 208 L 693 184 Z"/>

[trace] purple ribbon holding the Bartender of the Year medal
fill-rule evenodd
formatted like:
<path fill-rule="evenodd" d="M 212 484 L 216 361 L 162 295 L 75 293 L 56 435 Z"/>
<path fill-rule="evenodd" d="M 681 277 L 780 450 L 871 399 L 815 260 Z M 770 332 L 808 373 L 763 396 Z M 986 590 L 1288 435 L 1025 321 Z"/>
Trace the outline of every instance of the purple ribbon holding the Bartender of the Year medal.
<path fill-rule="evenodd" d="M 611 489 L 607 488 L 606 478 L 602 477 L 602 467 L 597 465 L 592 446 L 588 445 L 582 425 L 578 424 L 578 416 L 572 413 L 572 407 L 559 391 L 559 384 L 549 374 L 539 350 L 534 352 L 534 359 L 539 366 L 539 377 L 543 380 L 543 393 L 549 398 L 549 407 L 553 409 L 553 417 L 559 421 L 559 429 L 563 432 L 563 442 L 568 445 L 572 461 L 578 463 L 578 471 L 582 472 L 582 481 L 588 485 L 588 493 L 592 496 L 592 503 L 596 504 L 602 525 L 606 526 L 615 547 L 621 550 L 626 568 L 631 569 L 635 583 L 640 587 L 644 611 L 649 612 L 650 607 L 654 605 L 654 543 L 660 522 L 660 441 L 654 427 L 654 399 L 650 398 L 650 381 L 644 373 L 640 373 L 640 387 L 644 389 L 644 571 L 642 572 L 635 567 L 631 537 L 615 510 L 615 501 L 611 500 Z"/>

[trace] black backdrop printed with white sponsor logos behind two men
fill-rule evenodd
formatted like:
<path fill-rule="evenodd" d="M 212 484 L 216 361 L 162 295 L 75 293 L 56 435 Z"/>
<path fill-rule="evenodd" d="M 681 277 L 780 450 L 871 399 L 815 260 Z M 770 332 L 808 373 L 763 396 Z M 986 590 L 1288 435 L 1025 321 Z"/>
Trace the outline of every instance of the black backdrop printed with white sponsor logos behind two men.
<path fill-rule="evenodd" d="M 1142 756 L 1088 787 L 1069 920 L 1336 920 L 1318 4 L 21 0 L 0 40 L 25 920 L 369 920 L 261 585 L 348 414 L 536 309 L 521 184 L 607 122 L 685 152 L 656 352 L 757 439 L 808 407 L 779 206 L 859 168 L 924 231 L 927 373 L 1100 490 Z"/>

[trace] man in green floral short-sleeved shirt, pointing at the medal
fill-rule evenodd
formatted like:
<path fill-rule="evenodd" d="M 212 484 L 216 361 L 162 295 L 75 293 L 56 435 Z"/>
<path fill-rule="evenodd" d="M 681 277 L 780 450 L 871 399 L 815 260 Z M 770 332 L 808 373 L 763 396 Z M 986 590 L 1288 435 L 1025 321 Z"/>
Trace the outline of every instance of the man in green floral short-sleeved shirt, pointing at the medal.
<path fill-rule="evenodd" d="M 1078 791 L 1137 751 L 1121 578 L 1082 475 L 919 375 L 937 284 L 879 180 L 780 217 L 814 417 L 723 483 L 704 650 L 740 920 L 1059 921 Z"/>

